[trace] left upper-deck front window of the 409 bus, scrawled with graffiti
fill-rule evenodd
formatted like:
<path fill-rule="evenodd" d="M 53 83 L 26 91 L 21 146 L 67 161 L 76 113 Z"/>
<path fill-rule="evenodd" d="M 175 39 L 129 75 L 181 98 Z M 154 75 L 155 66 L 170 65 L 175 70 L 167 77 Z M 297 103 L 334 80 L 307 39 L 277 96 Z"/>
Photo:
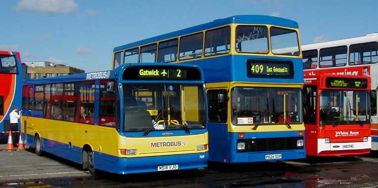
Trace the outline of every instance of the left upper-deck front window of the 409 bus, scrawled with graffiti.
<path fill-rule="evenodd" d="M 266 26 L 237 26 L 236 51 L 267 54 L 268 28 Z"/>

